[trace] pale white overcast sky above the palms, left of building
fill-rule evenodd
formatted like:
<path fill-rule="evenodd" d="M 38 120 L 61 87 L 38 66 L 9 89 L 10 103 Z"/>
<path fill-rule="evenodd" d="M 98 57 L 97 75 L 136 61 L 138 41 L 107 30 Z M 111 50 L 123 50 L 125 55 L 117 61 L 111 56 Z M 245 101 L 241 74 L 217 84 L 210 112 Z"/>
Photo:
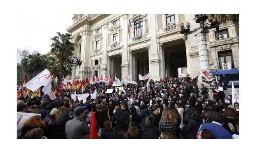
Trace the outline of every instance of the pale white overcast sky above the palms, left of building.
<path fill-rule="evenodd" d="M 18 14 L 16 48 L 37 50 L 41 54 L 50 51 L 50 40 L 57 36 L 56 32 L 67 33 L 66 29 L 72 25 L 73 14 Z"/>

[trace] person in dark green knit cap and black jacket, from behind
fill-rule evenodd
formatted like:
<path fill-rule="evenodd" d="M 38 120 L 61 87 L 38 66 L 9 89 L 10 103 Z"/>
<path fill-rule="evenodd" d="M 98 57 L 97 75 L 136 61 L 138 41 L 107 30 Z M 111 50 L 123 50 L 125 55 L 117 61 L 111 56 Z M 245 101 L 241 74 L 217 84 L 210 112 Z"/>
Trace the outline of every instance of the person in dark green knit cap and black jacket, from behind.
<path fill-rule="evenodd" d="M 157 139 L 160 136 L 160 132 L 154 125 L 155 118 L 152 115 L 146 117 L 145 128 L 142 130 L 142 139 Z"/>

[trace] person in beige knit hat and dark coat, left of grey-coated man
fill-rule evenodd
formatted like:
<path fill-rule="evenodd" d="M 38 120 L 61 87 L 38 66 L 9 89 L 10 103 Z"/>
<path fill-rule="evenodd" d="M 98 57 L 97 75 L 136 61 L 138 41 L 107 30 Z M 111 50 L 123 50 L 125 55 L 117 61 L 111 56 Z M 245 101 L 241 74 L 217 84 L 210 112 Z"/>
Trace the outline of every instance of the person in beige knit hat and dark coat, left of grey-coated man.
<path fill-rule="evenodd" d="M 55 116 L 58 113 L 57 108 L 54 108 L 51 110 L 50 114 L 48 114 L 45 118 L 44 118 L 44 123 L 45 123 L 45 127 L 46 127 L 46 137 L 48 139 L 52 139 L 54 138 L 54 134 L 53 134 L 53 126 L 52 123 L 55 120 Z"/>

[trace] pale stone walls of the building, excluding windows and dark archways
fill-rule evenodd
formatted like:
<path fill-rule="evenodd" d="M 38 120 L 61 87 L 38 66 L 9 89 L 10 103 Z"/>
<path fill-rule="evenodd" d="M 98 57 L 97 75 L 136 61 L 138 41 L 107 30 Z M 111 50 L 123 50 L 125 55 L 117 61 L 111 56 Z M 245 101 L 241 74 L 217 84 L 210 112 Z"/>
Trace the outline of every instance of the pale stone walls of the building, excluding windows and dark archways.
<path fill-rule="evenodd" d="M 129 15 L 132 26 L 139 15 Z M 121 58 L 121 80 L 124 76 L 133 74 L 137 78 L 137 59 L 142 54 L 148 54 L 149 72 L 152 79 L 160 80 L 166 76 L 166 61 L 164 53 L 166 45 L 175 42 L 184 43 L 183 34 L 180 34 L 179 24 L 181 22 L 191 23 L 191 29 L 198 28 L 200 25 L 192 21 L 193 15 L 174 15 L 175 25 L 167 26 L 166 15 L 163 14 L 143 14 L 142 36 L 133 36 L 133 30 L 128 34 L 128 15 L 74 15 L 73 25 L 67 29 L 73 35 L 73 42 L 77 44 L 76 53 L 79 53 L 81 44 L 81 57 L 83 64 L 77 68 L 77 78 L 83 79 L 85 76 L 94 76 L 94 71 L 100 74 L 114 76 L 115 70 L 113 62 Z M 117 25 L 113 22 L 117 20 Z M 205 26 L 210 23 L 205 22 Z M 97 29 L 100 32 L 97 33 Z M 227 29 L 229 38 L 222 40 L 215 39 L 215 28 L 210 29 L 206 34 L 207 48 L 209 54 L 210 69 L 219 68 L 218 52 L 231 50 L 233 55 L 234 67 L 239 68 L 239 40 L 236 37 L 235 26 L 233 24 L 222 25 L 219 29 Z M 117 33 L 117 43 L 113 44 L 113 34 Z M 96 50 L 96 42 L 100 41 L 99 49 Z M 187 58 L 187 73 L 191 77 L 200 75 L 200 64 L 197 40 L 193 34 L 188 35 L 185 41 L 185 53 Z M 99 61 L 94 65 L 95 60 Z M 119 70 L 119 69 L 118 69 Z M 118 72 L 119 73 L 119 72 Z M 185 74 L 179 74 L 183 76 Z M 112 77 L 113 78 L 113 77 Z"/>

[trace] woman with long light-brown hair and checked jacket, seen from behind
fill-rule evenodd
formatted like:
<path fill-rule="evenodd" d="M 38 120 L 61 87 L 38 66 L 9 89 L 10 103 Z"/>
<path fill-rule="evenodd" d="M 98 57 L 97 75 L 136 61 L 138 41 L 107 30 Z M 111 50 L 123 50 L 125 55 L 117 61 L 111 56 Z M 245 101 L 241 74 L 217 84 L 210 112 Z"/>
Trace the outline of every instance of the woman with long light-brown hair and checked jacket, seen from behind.
<path fill-rule="evenodd" d="M 173 114 L 169 108 L 163 110 L 161 121 L 159 122 L 160 132 L 169 132 L 176 138 L 176 124 L 177 119 L 174 119 Z"/>

